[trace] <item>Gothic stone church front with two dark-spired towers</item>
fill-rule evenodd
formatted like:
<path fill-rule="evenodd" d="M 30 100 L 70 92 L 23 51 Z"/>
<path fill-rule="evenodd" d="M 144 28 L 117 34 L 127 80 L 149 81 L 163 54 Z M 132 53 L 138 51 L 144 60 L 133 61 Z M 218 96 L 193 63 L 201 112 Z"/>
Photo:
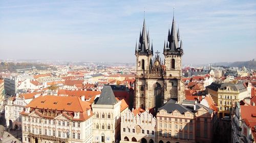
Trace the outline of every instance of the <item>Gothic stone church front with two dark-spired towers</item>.
<path fill-rule="evenodd" d="M 182 102 L 184 99 L 184 82 L 181 81 L 181 58 L 183 55 L 179 30 L 176 30 L 173 17 L 172 29 L 168 31 L 168 39 L 163 46 L 164 61 L 159 53 L 153 58 L 153 44 L 146 32 L 145 19 L 139 43 L 136 41 L 136 81 L 134 107 L 157 110 L 169 99 Z"/>

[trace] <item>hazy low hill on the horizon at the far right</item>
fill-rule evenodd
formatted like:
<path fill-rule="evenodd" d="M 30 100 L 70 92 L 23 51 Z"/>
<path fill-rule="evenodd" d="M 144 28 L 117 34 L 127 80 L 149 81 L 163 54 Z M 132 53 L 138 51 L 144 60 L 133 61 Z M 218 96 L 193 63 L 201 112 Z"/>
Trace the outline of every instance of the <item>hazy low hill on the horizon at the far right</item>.
<path fill-rule="evenodd" d="M 219 63 L 212 63 L 211 65 L 239 67 L 239 68 L 242 68 L 243 66 L 245 66 L 246 68 L 249 68 L 249 69 L 256 69 L 256 59 L 253 59 L 251 61 L 233 62 L 233 63 L 219 62 Z"/>

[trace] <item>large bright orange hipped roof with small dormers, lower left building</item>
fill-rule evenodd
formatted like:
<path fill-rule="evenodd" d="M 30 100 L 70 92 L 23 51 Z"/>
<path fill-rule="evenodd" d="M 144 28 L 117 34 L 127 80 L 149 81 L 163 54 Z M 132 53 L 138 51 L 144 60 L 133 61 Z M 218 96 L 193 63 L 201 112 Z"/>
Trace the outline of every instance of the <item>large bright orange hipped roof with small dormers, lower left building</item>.
<path fill-rule="evenodd" d="M 91 108 L 90 105 L 91 103 L 82 101 L 79 97 L 46 95 L 33 99 L 26 107 L 84 112 Z"/>

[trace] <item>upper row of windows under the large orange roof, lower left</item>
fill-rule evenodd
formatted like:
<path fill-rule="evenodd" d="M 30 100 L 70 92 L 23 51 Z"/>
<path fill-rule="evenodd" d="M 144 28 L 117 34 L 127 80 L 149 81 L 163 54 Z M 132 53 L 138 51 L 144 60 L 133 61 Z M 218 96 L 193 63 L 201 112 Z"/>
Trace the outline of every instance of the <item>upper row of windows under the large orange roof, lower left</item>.
<path fill-rule="evenodd" d="M 34 123 L 41 123 L 41 119 L 40 118 L 31 118 L 32 120 L 31 120 L 31 122 L 34 122 Z M 27 118 L 27 117 L 25 117 L 25 121 L 29 121 L 29 118 Z M 44 120 L 45 122 L 45 124 L 49 124 L 49 125 L 55 125 L 55 120 L 48 120 L 48 119 L 46 119 L 46 120 Z M 61 122 L 62 122 L 62 124 L 61 124 Z M 70 126 L 70 122 L 69 121 L 58 121 L 58 125 L 59 126 Z M 80 123 L 78 122 L 77 123 L 77 126 L 76 126 L 76 122 L 72 122 L 72 127 L 80 127 Z"/>

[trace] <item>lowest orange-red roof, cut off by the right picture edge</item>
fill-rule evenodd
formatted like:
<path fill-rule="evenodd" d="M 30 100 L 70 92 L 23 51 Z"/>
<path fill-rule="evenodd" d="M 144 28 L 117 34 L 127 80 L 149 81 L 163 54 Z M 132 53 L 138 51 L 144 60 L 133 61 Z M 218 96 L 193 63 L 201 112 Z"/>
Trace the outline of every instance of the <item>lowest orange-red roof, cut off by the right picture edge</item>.
<path fill-rule="evenodd" d="M 243 106 L 241 105 L 241 118 L 247 119 L 250 126 L 254 127 L 256 125 L 256 106 Z"/>

